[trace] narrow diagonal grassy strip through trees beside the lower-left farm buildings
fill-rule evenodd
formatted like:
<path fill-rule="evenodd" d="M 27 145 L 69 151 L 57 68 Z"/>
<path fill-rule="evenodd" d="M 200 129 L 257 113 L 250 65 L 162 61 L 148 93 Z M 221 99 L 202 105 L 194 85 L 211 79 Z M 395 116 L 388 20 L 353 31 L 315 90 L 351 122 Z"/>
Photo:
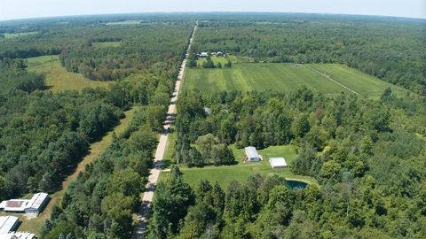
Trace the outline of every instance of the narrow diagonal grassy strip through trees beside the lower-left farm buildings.
<path fill-rule="evenodd" d="M 120 123 L 116 127 L 114 127 L 113 130 L 109 131 L 98 142 L 91 143 L 89 154 L 86 155 L 83 158 L 83 160 L 78 164 L 78 166 L 75 169 L 75 172 L 69 175 L 67 179 L 62 182 L 62 189 L 50 195 L 51 202 L 44 209 L 43 213 L 40 213 L 36 219 L 32 219 L 32 220 L 26 220 L 22 214 L 18 214 L 18 216 L 20 217 L 20 220 L 22 221 L 22 224 L 20 225 L 20 228 L 19 228 L 20 231 L 28 231 L 28 232 L 36 233 L 36 234 L 40 232 L 40 229 L 43 227 L 44 221 L 49 219 L 51 216 L 52 206 L 60 203 L 60 200 L 64 196 L 64 193 L 67 190 L 69 183 L 71 183 L 71 181 L 75 181 L 75 179 L 78 176 L 78 173 L 82 172 L 85 166 L 94 162 L 97 158 L 99 158 L 102 152 L 106 150 L 108 145 L 113 140 L 113 132 L 115 133 L 115 135 L 120 135 L 122 134 L 122 132 L 124 132 L 133 114 L 137 111 L 137 109 L 138 107 L 133 107 L 130 111 L 124 112 L 125 117 L 122 120 L 120 120 Z"/>

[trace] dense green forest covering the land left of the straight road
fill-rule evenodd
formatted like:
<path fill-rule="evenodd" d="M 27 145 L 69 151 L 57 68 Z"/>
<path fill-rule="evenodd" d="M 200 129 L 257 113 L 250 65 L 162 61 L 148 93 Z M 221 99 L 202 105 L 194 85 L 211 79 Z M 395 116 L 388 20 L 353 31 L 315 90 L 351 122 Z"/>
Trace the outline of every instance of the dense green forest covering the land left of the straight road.
<path fill-rule="evenodd" d="M 37 34 L 0 40 L 0 200 L 59 190 L 90 143 L 136 106 L 125 132 L 71 183 L 41 232 L 42 238 L 128 238 L 193 22 L 70 22 L 48 22 L 31 29 Z M 111 41 L 120 46 L 94 44 Z M 97 75 L 92 80 L 117 82 L 52 93 L 43 74 L 27 71 L 25 60 L 46 54 L 60 54 L 70 71 Z"/>

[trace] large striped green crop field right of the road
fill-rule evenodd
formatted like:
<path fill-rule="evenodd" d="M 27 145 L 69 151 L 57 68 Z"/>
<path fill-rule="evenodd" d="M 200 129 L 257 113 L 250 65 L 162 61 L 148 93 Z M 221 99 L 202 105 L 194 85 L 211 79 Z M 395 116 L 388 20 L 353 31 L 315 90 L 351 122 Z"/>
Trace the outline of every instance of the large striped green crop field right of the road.
<path fill-rule="evenodd" d="M 208 94 L 238 89 L 241 91 L 293 91 L 306 86 L 329 95 L 351 92 L 377 98 L 390 87 L 398 96 L 406 89 L 381 81 L 366 73 L 339 64 L 237 63 L 232 68 L 188 69 L 184 90 L 200 89 Z"/>

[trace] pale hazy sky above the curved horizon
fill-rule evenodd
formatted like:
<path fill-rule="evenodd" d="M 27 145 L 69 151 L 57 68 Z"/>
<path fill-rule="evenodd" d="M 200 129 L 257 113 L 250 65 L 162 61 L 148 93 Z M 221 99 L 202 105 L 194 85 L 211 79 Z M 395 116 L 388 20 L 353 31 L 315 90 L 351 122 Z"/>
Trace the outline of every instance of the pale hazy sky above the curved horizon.
<path fill-rule="evenodd" d="M 426 0 L 0 0 L 0 20 L 130 12 L 310 12 L 426 19 Z"/>

